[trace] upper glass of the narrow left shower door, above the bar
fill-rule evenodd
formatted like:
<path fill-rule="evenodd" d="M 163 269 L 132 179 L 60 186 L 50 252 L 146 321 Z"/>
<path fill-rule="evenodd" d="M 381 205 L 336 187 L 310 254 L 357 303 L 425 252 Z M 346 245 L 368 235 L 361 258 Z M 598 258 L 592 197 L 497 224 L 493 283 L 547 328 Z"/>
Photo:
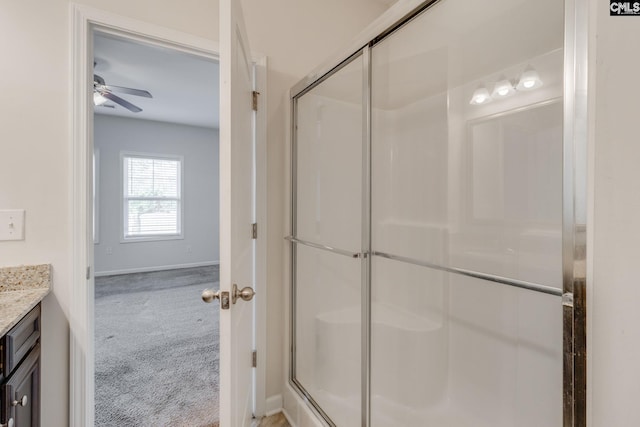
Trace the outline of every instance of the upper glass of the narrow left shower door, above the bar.
<path fill-rule="evenodd" d="M 298 98 L 296 237 L 360 252 L 363 59 Z"/>

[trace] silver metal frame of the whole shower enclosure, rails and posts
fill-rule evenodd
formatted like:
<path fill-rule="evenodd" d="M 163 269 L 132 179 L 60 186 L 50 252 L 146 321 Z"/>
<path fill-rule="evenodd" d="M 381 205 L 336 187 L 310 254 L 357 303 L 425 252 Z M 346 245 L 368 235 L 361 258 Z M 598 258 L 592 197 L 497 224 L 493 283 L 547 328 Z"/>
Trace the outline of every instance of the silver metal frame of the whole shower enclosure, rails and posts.
<path fill-rule="evenodd" d="M 352 60 L 363 57 L 363 224 L 362 249 L 350 254 L 362 261 L 362 426 L 371 420 L 371 49 L 432 5 L 444 0 L 428 0 L 408 10 L 401 19 L 379 32 L 364 46 L 344 56 L 344 60 L 325 64 L 291 89 L 291 223 L 290 236 L 290 359 L 289 383 L 326 425 L 335 426 L 330 417 L 296 379 L 296 245 L 307 244 L 296 235 L 297 100 Z M 587 425 L 587 346 L 586 346 L 586 230 L 587 230 L 587 61 L 588 4 L 564 0 L 564 89 L 563 89 L 563 219 L 562 290 L 545 292 L 562 295 L 563 309 L 563 427 Z M 309 246 L 314 246 L 313 244 Z M 315 245 L 318 248 L 318 245 Z M 319 248 L 334 251 L 328 246 Z M 344 252 L 344 251 L 342 251 Z M 336 253 L 340 253 L 336 251 Z M 348 255 L 341 253 L 342 255 Z M 430 267 L 433 267 L 430 265 Z M 491 277 L 480 277 L 492 280 Z M 493 280 L 505 283 L 502 279 Z M 510 281 L 509 279 L 506 279 Z M 511 281 L 510 281 L 511 282 Z M 525 285 L 529 285 L 525 283 Z M 518 286 L 526 288 L 527 286 Z"/>

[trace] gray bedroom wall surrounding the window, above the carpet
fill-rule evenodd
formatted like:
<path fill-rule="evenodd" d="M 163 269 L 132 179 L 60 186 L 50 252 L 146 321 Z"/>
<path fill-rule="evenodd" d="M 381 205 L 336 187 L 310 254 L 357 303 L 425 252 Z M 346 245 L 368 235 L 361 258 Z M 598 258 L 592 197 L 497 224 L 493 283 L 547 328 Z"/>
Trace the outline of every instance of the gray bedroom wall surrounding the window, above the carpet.
<path fill-rule="evenodd" d="M 94 123 L 100 162 L 96 275 L 218 262 L 218 130 L 101 114 Z M 120 242 L 122 151 L 184 158 L 184 239 Z"/>

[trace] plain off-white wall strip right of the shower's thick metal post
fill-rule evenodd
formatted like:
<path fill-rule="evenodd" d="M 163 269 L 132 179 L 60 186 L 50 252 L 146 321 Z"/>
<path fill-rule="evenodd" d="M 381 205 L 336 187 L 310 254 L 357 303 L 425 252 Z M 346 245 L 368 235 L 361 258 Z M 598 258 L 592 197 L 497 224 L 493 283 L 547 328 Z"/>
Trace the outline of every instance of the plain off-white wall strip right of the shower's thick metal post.
<path fill-rule="evenodd" d="M 592 426 L 640 424 L 640 17 L 592 0 L 593 281 L 587 294 Z M 627 46 L 631 43 L 631 46 Z"/>

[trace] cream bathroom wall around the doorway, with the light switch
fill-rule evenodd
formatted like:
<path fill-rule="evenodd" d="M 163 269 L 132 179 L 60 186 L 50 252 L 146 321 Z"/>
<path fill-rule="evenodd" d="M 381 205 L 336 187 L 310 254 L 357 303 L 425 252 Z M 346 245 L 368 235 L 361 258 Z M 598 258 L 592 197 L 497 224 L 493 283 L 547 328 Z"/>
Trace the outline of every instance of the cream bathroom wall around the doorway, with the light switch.
<path fill-rule="evenodd" d="M 216 0 L 78 0 L 156 25 L 218 40 Z M 252 48 L 269 57 L 268 375 L 282 392 L 286 91 L 384 9 L 370 0 L 244 0 Z M 0 208 L 26 209 L 26 240 L 0 242 L 0 264 L 53 264 L 43 304 L 42 419 L 68 426 L 71 300 L 69 1 L 8 0 L 0 8 Z"/>

